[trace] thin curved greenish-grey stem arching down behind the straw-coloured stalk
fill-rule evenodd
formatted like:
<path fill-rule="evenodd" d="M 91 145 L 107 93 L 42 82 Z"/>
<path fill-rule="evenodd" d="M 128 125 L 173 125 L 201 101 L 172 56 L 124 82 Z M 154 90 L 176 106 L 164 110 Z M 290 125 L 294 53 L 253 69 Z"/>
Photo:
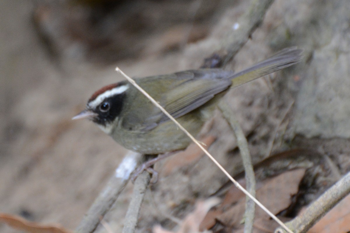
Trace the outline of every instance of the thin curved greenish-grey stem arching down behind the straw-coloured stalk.
<path fill-rule="evenodd" d="M 248 142 L 241 129 L 237 119 L 235 118 L 235 114 L 232 112 L 231 108 L 226 104 L 225 101 L 220 101 L 219 108 L 224 115 L 225 119 L 231 125 L 231 128 L 235 132 L 237 138 L 237 145 L 241 154 L 241 158 L 243 161 L 244 171 L 245 171 L 245 179 L 247 183 L 247 191 L 255 197 L 255 175 L 252 165 L 251 156 L 248 149 Z M 254 213 L 255 213 L 255 203 L 252 199 L 246 197 L 246 205 L 245 205 L 245 216 L 244 216 L 244 232 L 250 233 L 253 232 L 253 223 L 254 223 Z"/>

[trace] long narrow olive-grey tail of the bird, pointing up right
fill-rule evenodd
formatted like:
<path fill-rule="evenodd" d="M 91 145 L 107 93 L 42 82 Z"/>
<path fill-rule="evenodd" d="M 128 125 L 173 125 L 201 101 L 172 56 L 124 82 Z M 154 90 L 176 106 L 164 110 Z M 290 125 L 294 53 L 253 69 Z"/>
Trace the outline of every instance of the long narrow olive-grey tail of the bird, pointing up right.
<path fill-rule="evenodd" d="M 298 63 L 302 58 L 302 52 L 302 49 L 296 47 L 282 49 L 272 57 L 234 74 L 231 77 L 231 88 Z"/>

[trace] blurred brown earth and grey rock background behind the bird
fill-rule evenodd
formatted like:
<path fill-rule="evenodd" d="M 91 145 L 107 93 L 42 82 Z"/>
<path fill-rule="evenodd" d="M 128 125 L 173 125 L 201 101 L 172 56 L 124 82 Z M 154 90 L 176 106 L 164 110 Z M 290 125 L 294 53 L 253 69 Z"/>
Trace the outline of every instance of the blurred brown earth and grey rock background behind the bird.
<path fill-rule="evenodd" d="M 0 211 L 74 229 L 126 150 L 92 123 L 71 117 L 95 90 L 123 79 L 116 66 L 131 77 L 200 67 L 249 3 L 1 1 Z M 349 170 L 349 12 L 346 0 L 276 0 L 225 67 L 241 70 L 287 46 L 305 50 L 302 64 L 228 93 L 255 162 L 290 148 L 312 148 L 329 155 L 341 173 Z M 239 166 L 232 159 L 238 154 L 235 138 L 222 119 L 210 133 L 222 162 L 231 170 Z M 140 232 L 165 223 L 159 210 L 179 210 L 225 181 L 212 163 L 203 160 L 201 172 L 196 166 L 190 163 L 181 173 L 195 183 L 173 176 L 176 181 L 153 186 Z M 208 191 L 204 183 L 214 186 Z M 131 189 L 110 217 L 116 232 Z M 160 204 L 152 209 L 155 200 Z M 19 232 L 3 224 L 0 231 Z"/>

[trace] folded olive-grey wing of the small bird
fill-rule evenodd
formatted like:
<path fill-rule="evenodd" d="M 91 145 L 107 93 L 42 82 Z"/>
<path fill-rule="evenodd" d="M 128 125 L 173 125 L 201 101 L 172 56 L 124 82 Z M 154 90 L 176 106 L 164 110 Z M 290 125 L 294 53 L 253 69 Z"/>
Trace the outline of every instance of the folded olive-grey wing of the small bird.
<path fill-rule="evenodd" d="M 174 73 L 173 75 L 158 76 L 157 83 L 159 87 L 149 87 L 140 81 L 140 86 L 145 85 L 152 93 L 155 93 L 154 99 L 167 110 L 174 118 L 181 117 L 188 112 L 195 110 L 204 103 L 211 100 L 215 94 L 222 92 L 232 84 L 231 71 L 220 69 L 189 70 Z M 142 79 L 140 79 L 142 80 Z M 149 79 L 151 82 L 151 79 Z M 152 89 L 153 88 L 153 89 Z M 157 89 L 158 88 L 158 89 Z M 157 93 L 163 90 L 163 93 Z M 147 91 L 147 90 L 146 90 Z M 124 128 L 136 131 L 149 131 L 157 125 L 167 122 L 170 119 L 163 112 L 150 105 L 151 103 L 138 104 L 138 110 L 135 108 L 128 111 L 123 119 Z"/>

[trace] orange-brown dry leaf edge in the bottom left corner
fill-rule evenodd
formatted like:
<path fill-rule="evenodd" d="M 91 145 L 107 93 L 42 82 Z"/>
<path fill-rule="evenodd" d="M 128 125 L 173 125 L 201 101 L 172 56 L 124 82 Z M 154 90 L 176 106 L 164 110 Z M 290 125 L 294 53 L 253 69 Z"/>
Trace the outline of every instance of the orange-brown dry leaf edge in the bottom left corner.
<path fill-rule="evenodd" d="M 35 222 L 28 221 L 19 216 L 14 216 L 6 213 L 0 213 L 0 221 L 3 221 L 7 225 L 26 231 L 29 233 L 73 233 L 70 230 L 64 229 L 57 224 L 44 225 Z"/>

